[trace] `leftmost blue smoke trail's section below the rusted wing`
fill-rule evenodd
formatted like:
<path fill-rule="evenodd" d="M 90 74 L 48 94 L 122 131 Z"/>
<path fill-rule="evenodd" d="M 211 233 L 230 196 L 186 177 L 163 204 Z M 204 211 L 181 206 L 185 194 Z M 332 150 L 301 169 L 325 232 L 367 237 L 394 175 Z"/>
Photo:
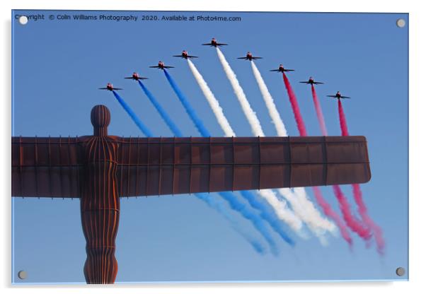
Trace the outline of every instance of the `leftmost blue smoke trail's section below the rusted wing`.
<path fill-rule="evenodd" d="M 198 193 L 198 194 L 195 194 L 195 196 L 198 199 L 204 201 L 210 208 L 213 208 L 217 212 L 219 212 L 221 216 L 224 216 L 224 218 L 226 218 L 226 220 L 228 220 L 229 223 L 231 223 L 232 228 L 238 234 L 240 234 L 244 239 L 246 239 L 246 241 L 250 243 L 250 245 L 253 247 L 253 249 L 255 249 L 256 252 L 260 254 L 265 254 L 265 247 L 263 247 L 263 245 L 260 242 L 258 242 L 258 240 L 255 240 L 255 238 L 251 237 L 251 235 L 241 230 L 236 220 L 234 220 L 234 218 L 232 218 L 229 215 L 229 213 L 226 212 L 225 208 L 221 205 L 220 202 L 216 201 L 215 199 L 213 199 L 212 196 L 205 193 Z"/>

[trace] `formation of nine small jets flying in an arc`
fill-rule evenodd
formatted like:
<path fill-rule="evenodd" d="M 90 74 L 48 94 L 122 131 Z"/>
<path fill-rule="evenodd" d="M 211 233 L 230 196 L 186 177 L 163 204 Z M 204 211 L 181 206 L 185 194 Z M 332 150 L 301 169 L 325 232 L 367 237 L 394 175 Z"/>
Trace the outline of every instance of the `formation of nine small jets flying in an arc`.
<path fill-rule="evenodd" d="M 221 46 L 228 45 L 228 44 L 219 43 L 213 37 L 212 40 L 209 43 L 205 43 L 205 44 L 202 44 L 202 45 L 204 45 L 204 46 L 210 46 L 210 47 L 221 47 Z M 186 51 L 186 50 L 183 50 L 182 53 L 179 54 L 179 55 L 173 55 L 173 57 L 180 57 L 180 58 L 184 58 L 184 59 L 198 58 L 197 56 L 193 56 L 193 55 L 188 54 L 188 51 Z M 249 61 L 253 61 L 253 60 L 256 60 L 256 59 L 262 59 L 262 58 L 263 57 L 255 57 L 255 56 L 253 56 L 253 54 L 251 54 L 251 52 L 247 52 L 247 54 L 246 54 L 245 57 L 238 57 L 238 59 L 245 59 L 245 60 L 249 60 Z M 173 69 L 174 68 L 174 66 L 166 66 L 163 63 L 163 61 L 159 61 L 159 64 L 157 64 L 156 66 L 149 66 L 149 67 L 152 68 L 152 69 L 162 69 L 162 70 L 164 70 L 164 69 Z M 278 69 L 271 69 L 270 71 L 284 73 L 284 72 L 287 72 L 287 71 L 294 71 L 294 69 L 286 69 L 286 68 L 284 68 L 284 66 L 282 64 L 280 64 L 280 66 L 278 67 Z M 127 76 L 125 78 L 132 79 L 134 81 L 148 79 L 148 78 L 144 78 L 143 76 L 139 76 L 139 73 L 137 73 L 137 72 L 134 72 L 132 74 L 132 76 Z M 310 85 L 323 84 L 322 82 L 314 81 L 313 77 L 311 77 L 311 76 L 309 77 L 308 81 L 300 81 L 299 83 L 306 83 L 307 85 L 309 85 L 309 84 Z M 100 90 L 110 90 L 110 91 L 113 91 L 113 90 L 122 90 L 122 88 L 115 88 L 112 83 L 108 83 L 105 88 L 99 88 L 99 89 Z M 350 98 L 348 96 L 341 95 L 340 91 L 338 91 L 337 93 L 335 93 L 335 95 L 327 95 L 327 97 L 335 98 L 335 99 L 338 99 L 338 100 L 340 100 L 340 99 L 349 99 Z"/>

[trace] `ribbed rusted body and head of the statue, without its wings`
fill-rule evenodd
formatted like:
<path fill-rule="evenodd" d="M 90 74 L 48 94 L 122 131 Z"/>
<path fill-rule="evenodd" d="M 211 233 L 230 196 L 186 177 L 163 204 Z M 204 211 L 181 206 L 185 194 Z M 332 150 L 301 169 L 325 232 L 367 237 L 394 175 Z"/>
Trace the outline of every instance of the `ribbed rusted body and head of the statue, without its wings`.
<path fill-rule="evenodd" d="M 109 112 L 95 107 L 91 117 L 95 136 L 81 143 L 85 157 L 81 193 L 81 223 L 87 253 L 84 276 L 87 283 L 114 283 L 117 276 L 115 237 L 120 218 L 116 176 L 118 143 L 107 136 Z"/>

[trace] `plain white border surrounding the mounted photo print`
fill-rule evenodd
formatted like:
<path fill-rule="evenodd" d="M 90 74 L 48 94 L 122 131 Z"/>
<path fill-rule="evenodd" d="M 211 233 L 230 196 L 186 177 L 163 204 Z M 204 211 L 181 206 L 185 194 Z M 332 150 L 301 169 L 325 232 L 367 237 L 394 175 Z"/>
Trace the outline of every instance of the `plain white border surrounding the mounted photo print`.
<path fill-rule="evenodd" d="M 98 3 L 97 3 L 98 2 Z M 422 79 L 425 69 L 425 32 L 426 16 L 422 12 L 422 1 L 334 1 L 334 0 L 303 0 L 303 1 L 273 1 L 273 0 L 63 0 L 63 1 L 1 1 L 1 63 L 0 88 L 3 93 L 1 99 L 0 130 L 1 144 L 1 235 L 2 242 L 0 266 L 1 287 L 6 292 L 14 290 L 18 293 L 56 293 L 61 288 L 63 293 L 74 293 L 77 289 L 81 293 L 88 291 L 94 293 L 280 293 L 289 291 L 293 293 L 359 293 L 360 291 L 374 290 L 376 293 L 419 293 L 425 287 L 425 215 L 422 213 L 426 207 L 422 181 L 426 166 L 425 109 L 426 95 L 422 93 Z M 164 285 L 115 285 L 115 286 L 11 286 L 11 9 L 93 9 L 93 10 L 185 10 L 185 11 L 333 11 L 333 12 L 393 12 L 410 13 L 410 281 L 393 283 L 196 283 L 196 284 L 164 284 Z M 424 10 L 423 10 L 424 11 Z M 389 73 L 392 74 L 392 73 Z M 386 79 L 386 76 L 383 77 Z M 398 140 L 398 138 L 396 138 Z M 422 193 L 423 192 L 423 193 Z"/>

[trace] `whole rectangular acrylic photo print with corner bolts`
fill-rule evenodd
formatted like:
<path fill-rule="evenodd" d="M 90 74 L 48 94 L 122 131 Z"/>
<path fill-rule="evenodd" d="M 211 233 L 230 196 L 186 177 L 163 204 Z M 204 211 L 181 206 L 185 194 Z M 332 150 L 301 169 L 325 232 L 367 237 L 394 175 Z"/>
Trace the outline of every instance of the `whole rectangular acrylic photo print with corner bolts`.
<path fill-rule="evenodd" d="M 13 283 L 408 279 L 408 14 L 12 11 L 12 30 Z"/>

